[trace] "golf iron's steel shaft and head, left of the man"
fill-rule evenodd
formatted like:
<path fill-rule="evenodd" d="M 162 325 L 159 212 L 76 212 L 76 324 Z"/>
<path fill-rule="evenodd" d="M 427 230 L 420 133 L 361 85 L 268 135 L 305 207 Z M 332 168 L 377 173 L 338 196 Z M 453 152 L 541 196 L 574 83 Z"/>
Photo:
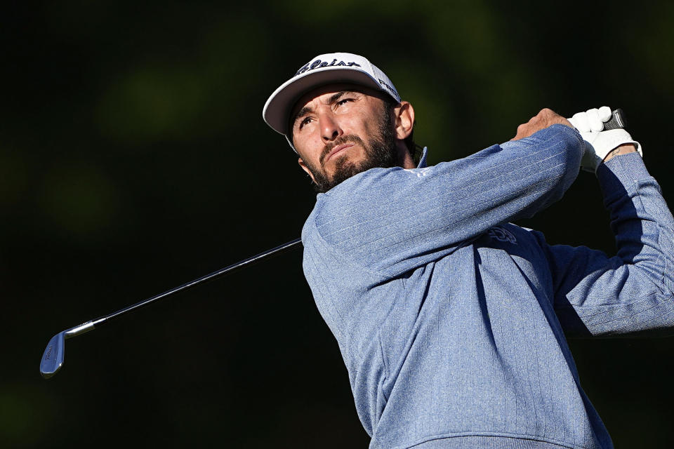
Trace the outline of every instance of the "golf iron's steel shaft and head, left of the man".
<path fill-rule="evenodd" d="M 247 265 L 253 264 L 254 262 L 259 262 L 260 260 L 263 260 L 265 257 L 282 253 L 285 250 L 289 250 L 290 248 L 294 248 L 295 246 L 300 245 L 300 243 L 302 243 L 302 239 L 295 239 L 293 241 L 289 241 L 288 243 L 285 243 L 281 246 L 277 246 L 276 248 L 267 250 L 264 253 L 254 255 L 253 257 L 249 257 L 246 260 L 242 260 L 241 262 L 232 264 L 229 267 L 219 269 L 217 272 L 206 274 L 206 276 L 201 276 L 199 279 L 194 279 L 194 281 L 184 283 L 182 286 L 173 288 L 164 293 L 160 293 L 159 295 L 150 297 L 147 300 L 136 302 L 136 304 L 132 304 L 128 307 L 125 307 L 124 309 L 114 311 L 112 312 L 112 314 L 101 316 L 100 318 L 87 321 L 86 323 L 82 323 L 79 326 L 75 326 L 74 328 L 64 330 L 54 335 L 53 337 L 51 337 L 51 340 L 49 340 L 47 347 L 44 350 L 44 354 L 42 354 L 42 359 L 40 361 L 40 374 L 45 379 L 48 379 L 49 377 L 52 377 L 53 375 L 58 373 L 58 370 L 61 368 L 61 366 L 63 366 L 63 358 L 65 355 L 65 340 L 67 340 L 68 338 L 72 338 L 75 337 L 76 335 L 80 335 L 88 332 L 89 330 L 98 328 L 99 326 L 103 325 L 103 323 L 107 323 L 108 321 L 117 318 L 119 316 L 122 316 L 130 311 L 140 309 L 140 307 L 145 307 L 147 306 L 147 304 L 151 304 L 152 302 L 164 299 L 165 297 L 169 297 L 174 293 L 178 293 L 183 290 L 187 290 L 188 288 L 201 285 L 207 281 L 213 281 L 213 279 L 218 279 L 220 276 L 233 272 L 235 269 L 245 267 Z"/>

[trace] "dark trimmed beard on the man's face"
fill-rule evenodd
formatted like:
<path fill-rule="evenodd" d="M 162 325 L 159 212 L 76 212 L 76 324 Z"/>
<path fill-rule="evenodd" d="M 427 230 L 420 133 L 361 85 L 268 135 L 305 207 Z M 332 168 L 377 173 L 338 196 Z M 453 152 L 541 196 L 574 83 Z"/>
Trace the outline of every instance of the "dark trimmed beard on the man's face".
<path fill-rule="evenodd" d="M 384 106 L 383 114 L 377 126 L 378 135 L 371 138 L 369 145 L 357 135 L 342 135 L 326 145 L 319 157 L 321 168 L 306 164 L 314 177 L 314 189 L 316 192 L 325 193 L 341 182 L 348 180 L 353 175 L 362 173 L 370 168 L 391 168 L 401 165 L 393 138 L 393 124 L 390 107 Z M 352 142 L 360 145 L 365 152 L 364 161 L 354 163 L 347 156 L 336 156 L 335 171 L 331 177 L 325 172 L 323 161 L 331 149 L 337 145 Z M 306 163 L 306 162 L 305 162 Z"/>

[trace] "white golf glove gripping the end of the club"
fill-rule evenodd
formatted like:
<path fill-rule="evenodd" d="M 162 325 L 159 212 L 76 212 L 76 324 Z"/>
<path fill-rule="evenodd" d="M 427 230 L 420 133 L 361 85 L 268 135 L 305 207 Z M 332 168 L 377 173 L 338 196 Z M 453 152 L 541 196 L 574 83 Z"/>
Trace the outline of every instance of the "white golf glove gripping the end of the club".
<path fill-rule="evenodd" d="M 599 109 L 579 112 L 569 119 L 571 125 L 581 133 L 581 137 L 585 140 L 585 154 L 581 159 L 583 170 L 595 173 L 597 167 L 612 149 L 625 144 L 633 144 L 637 152 L 643 156 L 639 142 L 633 140 L 630 133 L 623 128 L 603 130 L 604 123 L 611 119 L 611 114 L 611 108 L 602 106 Z"/>

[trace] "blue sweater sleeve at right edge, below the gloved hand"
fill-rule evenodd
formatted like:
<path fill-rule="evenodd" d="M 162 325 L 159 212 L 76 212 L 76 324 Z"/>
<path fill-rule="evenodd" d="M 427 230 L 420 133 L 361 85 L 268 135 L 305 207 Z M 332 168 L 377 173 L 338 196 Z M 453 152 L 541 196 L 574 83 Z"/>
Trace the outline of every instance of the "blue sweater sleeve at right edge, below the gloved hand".
<path fill-rule="evenodd" d="M 674 326 L 674 219 L 639 154 L 597 171 L 617 254 L 542 245 L 567 333 L 612 335 Z M 541 234 L 538 234 L 542 238 Z"/>

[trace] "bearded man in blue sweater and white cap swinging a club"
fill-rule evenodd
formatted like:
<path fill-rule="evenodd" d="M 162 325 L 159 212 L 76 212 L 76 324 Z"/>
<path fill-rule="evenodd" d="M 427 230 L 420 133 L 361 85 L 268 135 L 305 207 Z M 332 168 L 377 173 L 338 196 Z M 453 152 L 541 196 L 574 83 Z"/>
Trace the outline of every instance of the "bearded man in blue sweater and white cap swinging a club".
<path fill-rule="evenodd" d="M 609 109 L 573 123 L 543 109 L 509 142 L 427 167 L 409 102 L 333 53 L 263 116 L 322 192 L 303 267 L 371 448 L 612 448 L 564 334 L 673 326 L 674 220 L 639 144 L 602 131 Z M 560 199 L 581 163 L 616 257 L 510 224 Z"/>

